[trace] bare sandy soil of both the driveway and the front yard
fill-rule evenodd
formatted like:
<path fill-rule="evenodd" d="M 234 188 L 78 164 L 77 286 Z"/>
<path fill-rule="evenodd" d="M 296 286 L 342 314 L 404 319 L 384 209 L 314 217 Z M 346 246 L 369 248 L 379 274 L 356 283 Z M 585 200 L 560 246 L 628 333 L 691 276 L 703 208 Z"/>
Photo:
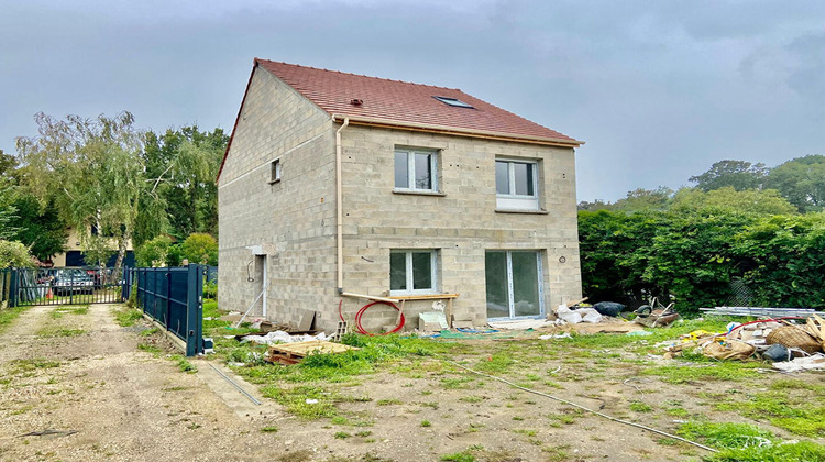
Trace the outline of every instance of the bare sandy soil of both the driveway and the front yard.
<path fill-rule="evenodd" d="M 140 334 L 145 322 L 118 326 L 117 307 L 91 305 L 87 314 L 55 319 L 58 308 L 34 307 L 0 333 L 2 461 L 438 461 L 462 451 L 499 462 L 682 461 L 706 454 L 435 359 L 334 385 L 350 398 L 338 405 L 348 417 L 301 420 L 218 361 L 193 360 L 199 372 L 187 374 L 172 350 L 139 349 L 167 345 L 157 334 Z M 711 408 L 714 397 L 736 393 L 736 383 L 664 384 L 640 377 L 632 362 L 598 361 L 598 352 L 587 360 L 524 361 L 537 372 L 519 377 L 525 386 L 661 430 L 675 431 L 680 417 L 629 405 L 747 421 Z M 264 404 L 253 405 L 210 364 Z M 45 430 L 56 433 L 24 436 Z"/>

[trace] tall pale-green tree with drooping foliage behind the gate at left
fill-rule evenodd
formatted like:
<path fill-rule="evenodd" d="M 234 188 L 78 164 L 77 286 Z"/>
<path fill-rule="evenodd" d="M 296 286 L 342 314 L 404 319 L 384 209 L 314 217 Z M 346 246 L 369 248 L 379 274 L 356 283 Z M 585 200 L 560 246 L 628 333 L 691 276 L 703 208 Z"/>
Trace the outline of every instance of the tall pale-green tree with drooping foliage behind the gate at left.
<path fill-rule="evenodd" d="M 138 210 L 157 200 L 145 178 L 134 118 L 122 112 L 64 121 L 41 112 L 35 121 L 38 136 L 18 139 L 26 187 L 41 204 L 55 197 L 62 217 L 77 229 L 87 261 L 102 264 L 117 252 L 120 270 Z"/>

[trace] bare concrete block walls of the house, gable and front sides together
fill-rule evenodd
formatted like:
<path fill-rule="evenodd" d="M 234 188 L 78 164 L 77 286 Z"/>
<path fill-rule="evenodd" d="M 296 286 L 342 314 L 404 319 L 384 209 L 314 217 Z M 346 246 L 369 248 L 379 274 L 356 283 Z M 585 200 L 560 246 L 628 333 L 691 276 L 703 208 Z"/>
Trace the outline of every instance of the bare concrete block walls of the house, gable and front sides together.
<path fill-rule="evenodd" d="M 317 326 L 338 321 L 334 133 L 329 114 L 264 69 L 256 69 L 219 183 L 219 304 L 244 311 L 261 292 L 255 253 L 267 255 L 267 317 Z M 572 148 L 374 129 L 351 124 L 343 142 L 344 290 L 385 296 L 392 249 L 438 249 L 439 289 L 460 293 L 457 315 L 486 322 L 485 250 L 538 250 L 544 307 L 581 297 Z M 439 151 L 443 196 L 394 194 L 396 146 Z M 547 213 L 496 212 L 495 158 L 540 161 Z M 282 180 L 270 184 L 279 158 Z M 560 260 L 560 257 L 564 257 Z M 249 282 L 249 277 L 255 278 Z M 343 299 L 349 319 L 366 300 Z M 408 301 L 408 328 L 432 301 Z M 258 301 L 253 316 L 262 315 Z M 378 306 L 367 329 L 394 324 Z"/>

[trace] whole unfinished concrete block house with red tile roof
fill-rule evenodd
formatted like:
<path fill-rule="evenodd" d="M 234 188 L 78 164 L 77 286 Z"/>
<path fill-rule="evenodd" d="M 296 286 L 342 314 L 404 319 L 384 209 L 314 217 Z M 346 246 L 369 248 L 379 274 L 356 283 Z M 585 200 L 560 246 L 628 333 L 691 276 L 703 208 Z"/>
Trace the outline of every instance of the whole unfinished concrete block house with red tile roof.
<path fill-rule="evenodd" d="M 218 176 L 219 304 L 333 330 L 581 298 L 570 136 L 453 88 L 255 59 Z M 429 317 L 429 315 L 428 315 Z"/>

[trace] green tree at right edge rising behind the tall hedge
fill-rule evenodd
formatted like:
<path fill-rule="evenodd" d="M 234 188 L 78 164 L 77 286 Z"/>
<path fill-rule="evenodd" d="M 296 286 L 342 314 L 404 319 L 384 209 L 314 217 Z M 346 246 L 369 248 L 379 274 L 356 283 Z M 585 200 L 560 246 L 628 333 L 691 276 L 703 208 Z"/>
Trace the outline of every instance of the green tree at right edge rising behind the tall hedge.
<path fill-rule="evenodd" d="M 796 157 L 774 167 L 766 186 L 779 190 L 801 212 L 825 207 L 825 156 Z"/>

